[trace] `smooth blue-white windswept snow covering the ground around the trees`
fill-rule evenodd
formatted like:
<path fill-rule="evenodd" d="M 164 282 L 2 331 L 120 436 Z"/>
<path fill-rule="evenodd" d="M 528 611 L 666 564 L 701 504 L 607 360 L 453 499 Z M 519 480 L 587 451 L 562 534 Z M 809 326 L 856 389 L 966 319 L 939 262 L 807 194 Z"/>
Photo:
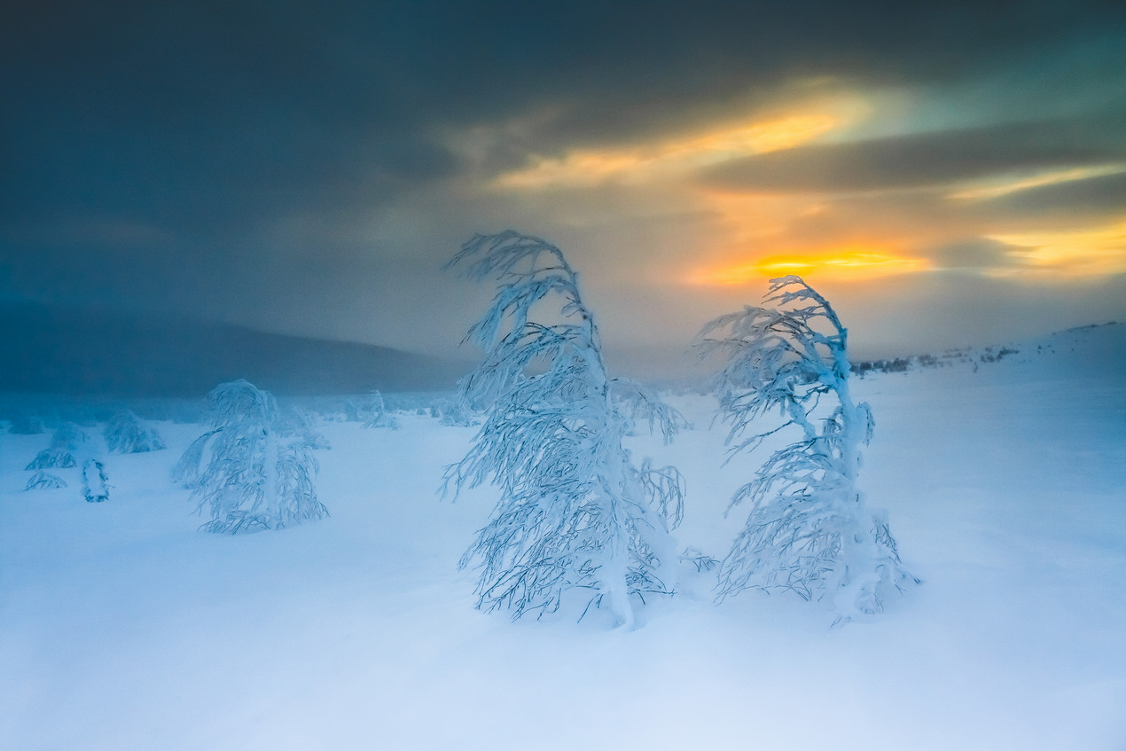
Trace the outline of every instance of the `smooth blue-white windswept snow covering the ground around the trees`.
<path fill-rule="evenodd" d="M 511 623 L 473 609 L 457 558 L 495 491 L 436 495 L 473 428 L 322 422 L 329 519 L 197 531 L 170 450 L 106 455 L 110 500 L 80 482 L 24 492 L 48 436 L 0 435 L 0 748 L 1126 748 L 1124 327 L 1020 356 L 856 383 L 876 436 L 860 485 L 923 583 L 868 620 L 745 592 L 713 573 L 638 608 Z M 688 480 L 680 546 L 722 557 L 723 511 L 761 457 L 723 459 L 714 401 L 637 458 Z"/>

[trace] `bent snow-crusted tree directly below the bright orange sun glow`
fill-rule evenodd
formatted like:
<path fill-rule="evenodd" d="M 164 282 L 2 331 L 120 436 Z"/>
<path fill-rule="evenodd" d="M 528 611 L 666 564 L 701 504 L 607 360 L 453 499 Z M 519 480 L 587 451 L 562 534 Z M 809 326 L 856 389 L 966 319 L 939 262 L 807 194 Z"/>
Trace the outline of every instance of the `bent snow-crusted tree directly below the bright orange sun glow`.
<path fill-rule="evenodd" d="M 772 279 L 767 303 L 704 327 L 696 347 L 724 363 L 720 411 L 730 424 L 729 461 L 786 429 L 797 440 L 776 450 L 740 488 L 743 531 L 720 567 L 718 599 L 748 588 L 828 597 L 839 619 L 883 610 L 908 573 L 883 515 L 857 490 L 872 412 L 849 391 L 847 330 L 829 302 L 796 276 Z M 822 402 L 825 403 L 822 403 Z M 758 430 L 776 411 L 783 422 Z"/>

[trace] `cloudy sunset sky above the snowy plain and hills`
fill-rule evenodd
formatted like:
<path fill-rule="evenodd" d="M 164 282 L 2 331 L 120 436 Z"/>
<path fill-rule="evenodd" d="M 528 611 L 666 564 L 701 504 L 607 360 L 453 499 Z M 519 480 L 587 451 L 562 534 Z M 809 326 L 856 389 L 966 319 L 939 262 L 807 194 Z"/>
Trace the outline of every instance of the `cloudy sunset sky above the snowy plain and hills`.
<path fill-rule="evenodd" d="M 1126 318 L 1120 2 L 21 5 L 0 302 L 464 356 L 511 227 L 637 375 L 785 274 L 854 357 Z"/>

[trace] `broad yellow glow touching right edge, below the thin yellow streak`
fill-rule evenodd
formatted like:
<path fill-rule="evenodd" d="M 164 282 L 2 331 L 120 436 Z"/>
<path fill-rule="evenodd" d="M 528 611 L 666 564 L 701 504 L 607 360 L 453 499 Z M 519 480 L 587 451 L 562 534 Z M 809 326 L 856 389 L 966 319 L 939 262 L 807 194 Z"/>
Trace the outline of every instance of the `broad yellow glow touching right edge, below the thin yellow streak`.
<path fill-rule="evenodd" d="M 1097 230 L 995 234 L 990 240 L 1010 245 L 1010 253 L 1026 263 L 1002 276 L 1048 272 L 1074 278 L 1126 272 L 1126 222 Z"/>

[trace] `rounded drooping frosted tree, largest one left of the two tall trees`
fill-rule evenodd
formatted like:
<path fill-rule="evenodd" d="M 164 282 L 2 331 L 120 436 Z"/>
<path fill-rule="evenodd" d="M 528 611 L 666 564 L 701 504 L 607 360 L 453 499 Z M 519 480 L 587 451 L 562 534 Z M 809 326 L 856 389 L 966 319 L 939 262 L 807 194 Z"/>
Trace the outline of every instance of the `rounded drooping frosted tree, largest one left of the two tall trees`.
<path fill-rule="evenodd" d="M 279 419 L 269 392 L 232 381 L 212 390 L 207 404 L 212 429 L 173 470 L 198 511 L 211 516 L 200 529 L 233 535 L 329 515 L 316 499 L 316 441 L 303 426 Z"/>

